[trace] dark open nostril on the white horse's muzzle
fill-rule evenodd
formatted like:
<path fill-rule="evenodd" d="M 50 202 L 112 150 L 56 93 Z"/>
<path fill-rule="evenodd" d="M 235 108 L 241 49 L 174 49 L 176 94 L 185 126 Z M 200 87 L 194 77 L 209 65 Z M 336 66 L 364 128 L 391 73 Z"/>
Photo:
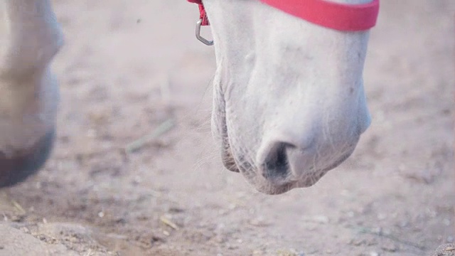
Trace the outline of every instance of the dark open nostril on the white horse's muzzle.
<path fill-rule="evenodd" d="M 289 175 L 289 159 L 287 149 L 295 146 L 279 142 L 269 151 L 264 161 L 262 176 L 268 179 L 286 178 Z"/>

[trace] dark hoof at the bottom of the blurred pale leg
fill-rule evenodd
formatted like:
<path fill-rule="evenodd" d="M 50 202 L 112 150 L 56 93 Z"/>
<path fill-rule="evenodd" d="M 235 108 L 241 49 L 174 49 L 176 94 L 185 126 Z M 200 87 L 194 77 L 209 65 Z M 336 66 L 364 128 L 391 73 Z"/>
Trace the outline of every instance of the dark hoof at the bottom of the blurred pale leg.
<path fill-rule="evenodd" d="M 30 149 L 17 151 L 12 158 L 6 158 L 0 151 L 0 188 L 14 186 L 36 174 L 50 156 L 54 137 L 55 131 L 52 130 Z"/>

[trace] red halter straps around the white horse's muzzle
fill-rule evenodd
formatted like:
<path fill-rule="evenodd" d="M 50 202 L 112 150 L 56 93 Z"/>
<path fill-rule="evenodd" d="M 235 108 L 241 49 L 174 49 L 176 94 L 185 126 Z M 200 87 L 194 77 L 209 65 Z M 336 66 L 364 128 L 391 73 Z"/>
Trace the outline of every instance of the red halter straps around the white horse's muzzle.
<path fill-rule="evenodd" d="M 209 25 L 202 0 L 188 0 L 199 4 L 202 26 Z M 303 18 L 338 31 L 364 31 L 376 25 L 379 0 L 368 4 L 338 4 L 326 0 L 260 0 L 287 14 Z"/>

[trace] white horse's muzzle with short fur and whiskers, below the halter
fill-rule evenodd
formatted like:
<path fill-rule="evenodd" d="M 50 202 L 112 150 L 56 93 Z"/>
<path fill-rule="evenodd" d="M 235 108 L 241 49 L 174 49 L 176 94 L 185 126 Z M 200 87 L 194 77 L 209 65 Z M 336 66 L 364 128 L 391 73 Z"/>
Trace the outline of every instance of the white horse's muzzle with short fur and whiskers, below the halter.
<path fill-rule="evenodd" d="M 213 133 L 225 164 L 264 193 L 313 185 L 370 125 L 362 78 L 368 31 L 323 28 L 259 0 L 204 4 L 217 60 Z M 264 162 L 282 143 L 292 145 L 288 171 L 273 174 Z"/>

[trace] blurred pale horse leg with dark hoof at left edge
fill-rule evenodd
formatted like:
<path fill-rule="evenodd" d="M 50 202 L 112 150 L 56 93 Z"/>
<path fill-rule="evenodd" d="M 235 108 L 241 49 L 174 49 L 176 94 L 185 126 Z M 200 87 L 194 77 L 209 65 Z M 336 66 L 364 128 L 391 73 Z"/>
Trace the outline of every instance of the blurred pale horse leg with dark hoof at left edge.
<path fill-rule="evenodd" d="M 41 169 L 53 147 L 63 33 L 49 0 L 0 1 L 0 188 Z"/>

